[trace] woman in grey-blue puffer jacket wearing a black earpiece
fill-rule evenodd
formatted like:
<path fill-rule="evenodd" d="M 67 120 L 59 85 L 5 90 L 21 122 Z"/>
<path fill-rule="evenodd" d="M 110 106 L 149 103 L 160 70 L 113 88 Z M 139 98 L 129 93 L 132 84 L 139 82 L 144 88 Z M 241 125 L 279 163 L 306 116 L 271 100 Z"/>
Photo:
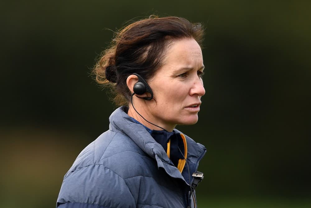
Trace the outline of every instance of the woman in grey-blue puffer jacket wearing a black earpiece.
<path fill-rule="evenodd" d="M 118 32 L 94 73 L 126 106 L 79 154 L 58 208 L 196 207 L 206 148 L 175 126 L 198 120 L 205 94 L 202 34 L 200 24 L 179 17 L 151 17 Z"/>

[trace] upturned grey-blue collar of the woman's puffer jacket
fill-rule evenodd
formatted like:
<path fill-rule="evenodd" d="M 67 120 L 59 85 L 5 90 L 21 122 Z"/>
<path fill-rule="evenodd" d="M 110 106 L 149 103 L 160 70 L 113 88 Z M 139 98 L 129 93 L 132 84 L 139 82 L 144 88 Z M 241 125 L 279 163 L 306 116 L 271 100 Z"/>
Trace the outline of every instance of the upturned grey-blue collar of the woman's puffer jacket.
<path fill-rule="evenodd" d="M 135 123 L 127 114 L 128 107 L 121 106 L 116 109 L 109 117 L 111 131 L 120 131 L 130 137 L 139 148 L 141 148 L 147 155 L 154 158 L 157 162 L 158 168 L 162 167 L 165 172 L 174 178 L 182 179 L 187 185 L 184 178 L 188 179 L 188 169 L 184 168 L 182 174 L 174 166 L 174 164 L 168 158 L 163 147 L 157 143 L 150 135 L 150 133 L 141 124 Z M 175 132 L 179 132 L 174 129 Z M 191 173 L 196 171 L 198 162 L 202 159 L 206 152 L 206 148 L 199 143 L 195 143 L 191 138 L 186 137 L 188 145 L 188 157 L 187 162 L 189 165 L 190 180 L 192 180 Z M 185 170 L 187 169 L 187 170 Z"/>

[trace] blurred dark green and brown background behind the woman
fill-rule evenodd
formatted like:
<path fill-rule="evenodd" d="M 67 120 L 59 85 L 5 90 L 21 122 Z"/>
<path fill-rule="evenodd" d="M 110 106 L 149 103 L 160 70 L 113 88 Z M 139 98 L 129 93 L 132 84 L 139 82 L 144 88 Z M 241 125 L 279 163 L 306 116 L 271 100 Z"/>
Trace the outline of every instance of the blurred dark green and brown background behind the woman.
<path fill-rule="evenodd" d="M 151 14 L 206 27 L 199 122 L 178 127 L 208 149 L 199 207 L 311 207 L 310 6 L 2 2 L 0 207 L 55 207 L 64 174 L 115 109 L 89 75 L 95 58 L 112 31 Z"/>

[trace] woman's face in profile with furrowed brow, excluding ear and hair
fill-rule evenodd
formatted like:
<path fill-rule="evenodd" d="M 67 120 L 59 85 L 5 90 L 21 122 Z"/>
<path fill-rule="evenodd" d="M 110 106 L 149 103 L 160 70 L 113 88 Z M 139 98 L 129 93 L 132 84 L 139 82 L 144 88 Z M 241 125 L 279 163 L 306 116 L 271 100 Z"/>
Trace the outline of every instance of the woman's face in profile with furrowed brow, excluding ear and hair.
<path fill-rule="evenodd" d="M 150 119 L 167 130 L 197 123 L 205 94 L 203 69 L 202 51 L 194 39 L 173 41 L 162 67 L 148 82 L 156 100 L 146 105 Z"/>

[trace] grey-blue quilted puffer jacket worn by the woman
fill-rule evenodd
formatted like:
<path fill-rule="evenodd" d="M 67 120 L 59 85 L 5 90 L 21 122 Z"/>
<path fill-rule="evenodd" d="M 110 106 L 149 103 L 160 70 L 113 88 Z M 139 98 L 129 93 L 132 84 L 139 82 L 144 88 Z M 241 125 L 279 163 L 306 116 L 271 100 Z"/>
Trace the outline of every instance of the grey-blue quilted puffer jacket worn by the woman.
<path fill-rule="evenodd" d="M 190 197 L 187 165 L 180 172 L 164 148 L 127 111 L 125 106 L 116 109 L 109 118 L 109 130 L 78 155 L 64 176 L 56 207 L 195 206 Z M 190 181 L 193 181 L 191 175 L 206 148 L 187 136 L 184 138 Z"/>

